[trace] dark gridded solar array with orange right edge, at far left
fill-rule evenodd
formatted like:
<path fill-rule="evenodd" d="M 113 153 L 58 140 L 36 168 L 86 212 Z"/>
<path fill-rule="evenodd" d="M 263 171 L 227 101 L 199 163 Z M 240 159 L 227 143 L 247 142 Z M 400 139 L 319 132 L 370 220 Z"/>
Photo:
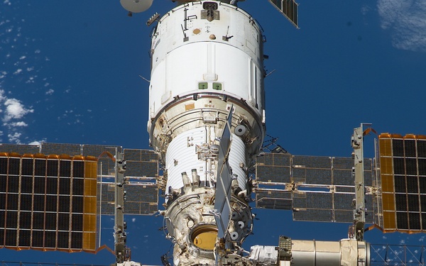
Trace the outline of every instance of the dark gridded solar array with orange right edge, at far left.
<path fill-rule="evenodd" d="M 0 172 L 1 247 L 96 250 L 95 161 L 1 155 Z"/>

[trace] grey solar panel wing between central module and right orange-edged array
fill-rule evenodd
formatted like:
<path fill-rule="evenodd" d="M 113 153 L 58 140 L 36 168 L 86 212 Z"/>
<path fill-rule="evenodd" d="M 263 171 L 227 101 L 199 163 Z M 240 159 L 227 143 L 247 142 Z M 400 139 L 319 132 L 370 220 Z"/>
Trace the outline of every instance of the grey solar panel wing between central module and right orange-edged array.
<path fill-rule="evenodd" d="M 256 181 L 261 184 L 261 189 L 256 190 L 256 207 L 293 209 L 296 221 L 351 223 L 354 221 L 352 201 L 355 198 L 353 165 L 351 157 L 264 153 L 256 158 Z M 364 160 L 364 178 L 366 185 L 371 186 L 372 159 Z M 287 186 L 285 192 L 280 184 Z M 291 184 L 294 184 L 293 190 L 288 187 Z M 366 222 L 373 223 L 371 195 L 366 195 L 366 209 Z"/>

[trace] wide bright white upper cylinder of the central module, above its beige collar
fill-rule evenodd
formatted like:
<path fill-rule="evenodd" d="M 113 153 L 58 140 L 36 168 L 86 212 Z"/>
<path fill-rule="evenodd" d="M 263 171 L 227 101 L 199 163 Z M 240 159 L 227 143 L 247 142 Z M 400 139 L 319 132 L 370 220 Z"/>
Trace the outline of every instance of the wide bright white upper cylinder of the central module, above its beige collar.
<path fill-rule="evenodd" d="M 209 21 L 211 5 L 217 7 Z M 234 96 L 262 116 L 263 38 L 241 9 L 217 1 L 173 9 L 153 33 L 151 60 L 150 118 L 195 92 Z"/>

